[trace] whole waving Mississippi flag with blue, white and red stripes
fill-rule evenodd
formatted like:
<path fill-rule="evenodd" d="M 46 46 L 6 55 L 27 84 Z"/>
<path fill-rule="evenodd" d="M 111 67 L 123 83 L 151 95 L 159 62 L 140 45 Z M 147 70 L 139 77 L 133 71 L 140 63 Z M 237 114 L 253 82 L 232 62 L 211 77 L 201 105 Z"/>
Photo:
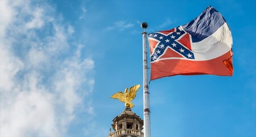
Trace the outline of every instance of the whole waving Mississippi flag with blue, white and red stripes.
<path fill-rule="evenodd" d="M 213 7 L 188 24 L 148 35 L 151 80 L 174 75 L 232 76 L 232 35 Z"/>

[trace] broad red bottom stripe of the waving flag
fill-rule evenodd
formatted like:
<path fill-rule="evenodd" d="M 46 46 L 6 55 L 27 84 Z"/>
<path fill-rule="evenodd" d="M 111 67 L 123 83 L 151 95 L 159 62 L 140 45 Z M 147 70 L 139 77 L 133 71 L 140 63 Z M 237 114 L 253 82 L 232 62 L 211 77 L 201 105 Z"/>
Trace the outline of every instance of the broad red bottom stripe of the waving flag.
<path fill-rule="evenodd" d="M 151 80 L 174 75 L 212 74 L 232 76 L 233 66 L 230 57 L 232 57 L 231 51 L 209 61 L 166 59 L 154 62 L 151 63 Z"/>

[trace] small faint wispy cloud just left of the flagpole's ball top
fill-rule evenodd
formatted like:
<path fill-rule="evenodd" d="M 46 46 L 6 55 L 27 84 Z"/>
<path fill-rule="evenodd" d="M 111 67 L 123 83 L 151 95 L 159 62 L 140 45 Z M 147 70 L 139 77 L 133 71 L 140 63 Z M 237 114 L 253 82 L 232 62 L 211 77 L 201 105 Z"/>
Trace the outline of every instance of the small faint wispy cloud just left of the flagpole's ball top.
<path fill-rule="evenodd" d="M 110 31 L 112 29 L 117 29 L 118 31 L 124 31 L 127 28 L 132 28 L 134 26 L 135 23 L 133 22 L 129 22 L 129 21 L 118 21 L 118 22 L 114 22 L 114 24 L 112 26 L 108 26 L 106 27 L 105 30 Z"/>

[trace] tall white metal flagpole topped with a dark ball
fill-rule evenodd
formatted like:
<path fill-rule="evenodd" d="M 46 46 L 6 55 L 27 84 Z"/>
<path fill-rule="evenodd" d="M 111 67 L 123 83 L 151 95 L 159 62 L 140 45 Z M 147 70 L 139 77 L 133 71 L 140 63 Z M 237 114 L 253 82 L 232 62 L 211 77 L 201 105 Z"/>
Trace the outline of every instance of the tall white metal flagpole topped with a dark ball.
<path fill-rule="evenodd" d="M 143 45 L 143 110 L 144 110 L 144 137 L 150 137 L 150 100 L 149 100 L 149 90 L 148 90 L 148 66 L 147 66 L 147 23 L 143 22 L 141 24 L 143 28 L 142 32 L 142 45 Z"/>

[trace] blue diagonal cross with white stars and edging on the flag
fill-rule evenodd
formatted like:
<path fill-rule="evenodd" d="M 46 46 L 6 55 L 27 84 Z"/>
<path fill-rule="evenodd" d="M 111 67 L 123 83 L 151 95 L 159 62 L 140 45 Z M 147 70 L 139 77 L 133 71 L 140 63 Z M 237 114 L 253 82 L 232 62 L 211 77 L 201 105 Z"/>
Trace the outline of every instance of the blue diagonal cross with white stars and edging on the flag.
<path fill-rule="evenodd" d="M 183 38 L 186 34 L 181 27 L 174 28 L 173 32 L 168 33 L 167 35 L 162 32 L 150 33 L 149 38 L 158 41 L 158 44 L 155 46 L 154 50 L 151 53 L 151 62 L 154 62 L 166 53 L 168 48 L 171 48 L 174 52 L 180 54 L 182 57 L 187 59 L 195 59 L 195 56 L 191 49 L 182 44 L 179 40 Z M 190 38 L 189 38 L 190 44 Z"/>

